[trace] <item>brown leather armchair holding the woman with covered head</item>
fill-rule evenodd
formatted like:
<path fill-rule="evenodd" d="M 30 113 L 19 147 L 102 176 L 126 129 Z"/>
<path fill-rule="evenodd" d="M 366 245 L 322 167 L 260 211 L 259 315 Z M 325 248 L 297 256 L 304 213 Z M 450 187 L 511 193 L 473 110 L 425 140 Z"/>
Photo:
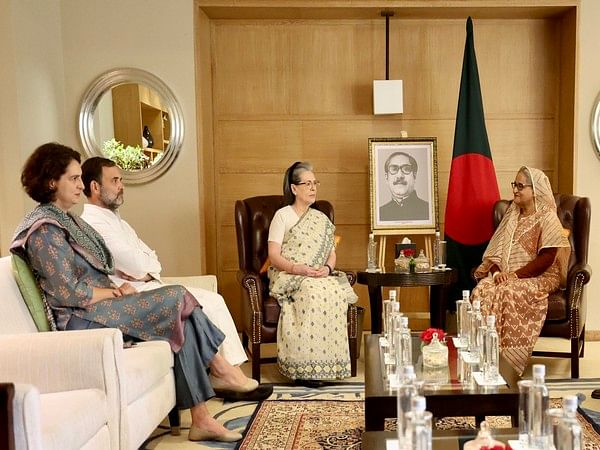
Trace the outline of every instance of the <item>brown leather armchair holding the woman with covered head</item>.
<path fill-rule="evenodd" d="M 569 230 L 571 256 L 567 285 L 550 294 L 548 313 L 540 336 L 569 339 L 571 350 L 534 351 L 536 356 L 571 358 L 571 378 L 579 378 L 579 357 L 583 357 L 585 346 L 586 300 L 585 285 L 590 281 L 592 269 L 587 263 L 590 235 L 590 200 L 569 194 L 554 194 L 556 209 L 562 226 Z M 494 226 L 504 217 L 510 201 L 500 200 L 494 205 Z"/>

